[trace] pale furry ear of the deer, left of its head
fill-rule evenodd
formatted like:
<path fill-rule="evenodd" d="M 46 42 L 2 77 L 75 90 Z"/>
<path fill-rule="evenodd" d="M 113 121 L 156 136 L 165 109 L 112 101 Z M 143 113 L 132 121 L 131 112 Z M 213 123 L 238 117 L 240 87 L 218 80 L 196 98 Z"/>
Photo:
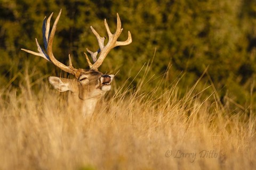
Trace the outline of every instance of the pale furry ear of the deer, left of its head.
<path fill-rule="evenodd" d="M 49 77 L 49 82 L 56 90 L 60 92 L 71 90 L 69 88 L 69 83 L 65 82 L 64 78 Z"/>

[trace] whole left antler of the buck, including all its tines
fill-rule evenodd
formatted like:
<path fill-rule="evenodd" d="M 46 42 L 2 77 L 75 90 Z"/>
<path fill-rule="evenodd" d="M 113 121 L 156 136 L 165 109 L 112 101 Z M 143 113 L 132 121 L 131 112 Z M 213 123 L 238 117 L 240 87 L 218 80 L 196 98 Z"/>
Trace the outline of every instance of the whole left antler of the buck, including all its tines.
<path fill-rule="evenodd" d="M 55 31 L 56 31 L 56 28 L 57 28 L 57 24 L 58 24 L 58 21 L 59 21 L 59 18 L 60 18 L 61 10 L 60 10 L 59 15 L 57 16 L 56 20 L 53 23 L 52 30 L 50 31 L 50 21 L 51 21 L 51 18 L 52 18 L 52 14 L 49 16 L 47 21 L 46 21 L 46 17 L 45 17 L 44 22 L 43 22 L 43 40 L 44 40 L 44 48 L 45 48 L 46 52 L 38 44 L 37 39 L 36 39 L 36 45 L 37 45 L 37 50 L 38 50 L 39 53 L 33 52 L 31 50 L 28 50 L 28 49 L 23 49 L 23 48 L 21 48 L 21 50 L 23 50 L 27 53 L 33 54 L 33 55 L 41 56 L 45 60 L 47 60 L 49 62 L 52 62 L 55 66 L 59 67 L 61 70 L 65 71 L 65 72 L 68 72 L 70 74 L 73 74 L 76 77 L 77 76 L 79 77 L 79 75 L 77 74 L 78 69 L 75 69 L 72 66 L 70 55 L 69 55 L 69 66 L 66 66 L 65 64 L 62 64 L 61 62 L 59 62 L 54 57 L 54 55 L 52 53 L 53 38 L 54 38 Z"/>

